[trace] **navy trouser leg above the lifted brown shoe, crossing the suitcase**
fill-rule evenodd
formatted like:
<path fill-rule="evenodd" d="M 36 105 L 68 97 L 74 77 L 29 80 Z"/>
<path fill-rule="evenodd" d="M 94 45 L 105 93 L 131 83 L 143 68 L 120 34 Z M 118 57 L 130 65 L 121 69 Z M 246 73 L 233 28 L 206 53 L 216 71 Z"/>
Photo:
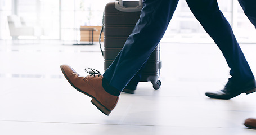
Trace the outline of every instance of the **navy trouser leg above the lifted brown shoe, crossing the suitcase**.
<path fill-rule="evenodd" d="M 140 19 L 119 55 L 103 74 L 110 86 L 122 91 L 163 37 L 178 0 L 145 0 Z"/>

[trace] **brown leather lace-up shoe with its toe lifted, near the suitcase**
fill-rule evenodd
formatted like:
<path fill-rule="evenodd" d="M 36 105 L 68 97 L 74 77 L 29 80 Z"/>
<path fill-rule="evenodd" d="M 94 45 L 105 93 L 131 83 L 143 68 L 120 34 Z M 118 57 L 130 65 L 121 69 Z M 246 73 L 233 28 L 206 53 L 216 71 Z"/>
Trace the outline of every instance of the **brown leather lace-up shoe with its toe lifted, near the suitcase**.
<path fill-rule="evenodd" d="M 119 97 L 110 95 L 102 87 L 102 75 L 100 73 L 90 73 L 87 77 L 80 76 L 68 65 L 60 66 L 65 78 L 77 91 L 92 97 L 92 104 L 102 113 L 109 115 L 115 108 Z"/>

